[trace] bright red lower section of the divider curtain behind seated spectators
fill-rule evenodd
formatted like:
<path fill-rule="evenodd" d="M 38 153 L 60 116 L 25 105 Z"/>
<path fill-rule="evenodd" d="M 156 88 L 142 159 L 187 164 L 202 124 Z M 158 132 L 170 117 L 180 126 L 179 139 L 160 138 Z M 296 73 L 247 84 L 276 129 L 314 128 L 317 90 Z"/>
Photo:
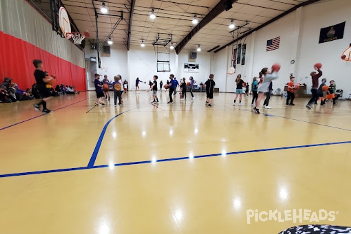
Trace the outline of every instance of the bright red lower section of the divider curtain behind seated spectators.
<path fill-rule="evenodd" d="M 44 71 L 57 76 L 53 86 L 63 83 L 64 85 L 75 86 L 77 91 L 86 90 L 84 68 L 0 31 L 0 83 L 8 76 L 21 89 L 32 87 L 35 83 L 33 75 L 35 71 L 34 59 L 42 60 Z"/>

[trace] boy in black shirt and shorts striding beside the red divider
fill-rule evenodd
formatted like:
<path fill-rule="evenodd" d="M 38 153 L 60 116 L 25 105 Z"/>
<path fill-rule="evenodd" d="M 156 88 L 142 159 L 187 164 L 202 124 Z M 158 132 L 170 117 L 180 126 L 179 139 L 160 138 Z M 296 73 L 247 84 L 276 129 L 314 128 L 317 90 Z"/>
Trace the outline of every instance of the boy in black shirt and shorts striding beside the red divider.
<path fill-rule="evenodd" d="M 37 82 L 37 89 L 40 95 L 43 97 L 43 99 L 39 103 L 34 105 L 34 109 L 39 112 L 40 105 L 42 105 L 43 106 L 42 112 L 44 114 L 47 114 L 52 111 L 46 108 L 46 101 L 51 99 L 52 96 L 50 96 L 50 93 L 46 88 L 46 83 L 52 81 L 54 78 L 49 75 L 46 75 L 45 72 L 42 71 L 43 62 L 41 60 L 39 59 L 33 60 L 33 65 L 35 67 L 34 77 L 35 77 L 35 81 Z"/>

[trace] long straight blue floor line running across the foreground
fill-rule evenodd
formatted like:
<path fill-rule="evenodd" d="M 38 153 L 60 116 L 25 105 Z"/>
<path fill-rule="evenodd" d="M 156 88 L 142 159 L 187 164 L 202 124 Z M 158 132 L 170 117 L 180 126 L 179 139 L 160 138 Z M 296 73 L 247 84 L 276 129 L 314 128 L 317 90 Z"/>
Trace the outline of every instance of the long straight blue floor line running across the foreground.
<path fill-rule="evenodd" d="M 311 145 L 286 146 L 286 147 L 276 147 L 276 148 L 266 148 L 266 149 L 253 149 L 253 150 L 246 150 L 246 151 L 229 152 L 229 153 L 226 153 L 225 155 L 247 154 L 247 153 L 257 153 L 257 152 L 270 152 L 270 151 L 280 151 L 280 150 L 285 150 L 285 149 L 310 148 L 310 147 L 342 145 L 342 144 L 350 144 L 350 143 L 351 143 L 351 141 L 339 141 L 339 142 L 319 143 L 319 144 L 311 144 Z M 223 155 L 223 154 L 218 153 L 218 154 L 197 155 L 197 156 L 194 156 L 194 159 L 215 157 L 215 156 L 221 156 L 221 155 Z M 128 166 L 128 165 L 139 165 L 139 164 L 187 160 L 187 159 L 190 159 L 190 158 L 189 157 L 179 157 L 179 158 L 158 159 L 158 160 L 155 160 L 154 162 L 151 160 L 123 162 L 123 163 L 113 164 L 113 166 L 120 167 L 120 166 Z M 87 169 L 106 168 L 106 167 L 110 167 L 110 166 L 111 165 L 98 165 L 98 166 L 91 166 L 91 167 L 89 167 L 89 166 L 87 166 L 87 167 L 72 167 L 72 168 L 53 169 L 53 170 L 45 170 L 45 171 L 11 173 L 11 174 L 2 174 L 2 175 L 0 175 L 0 178 L 13 177 L 13 176 L 24 176 L 24 175 L 48 174 L 48 173 L 56 173 L 56 172 L 80 171 L 80 170 L 87 170 Z"/>

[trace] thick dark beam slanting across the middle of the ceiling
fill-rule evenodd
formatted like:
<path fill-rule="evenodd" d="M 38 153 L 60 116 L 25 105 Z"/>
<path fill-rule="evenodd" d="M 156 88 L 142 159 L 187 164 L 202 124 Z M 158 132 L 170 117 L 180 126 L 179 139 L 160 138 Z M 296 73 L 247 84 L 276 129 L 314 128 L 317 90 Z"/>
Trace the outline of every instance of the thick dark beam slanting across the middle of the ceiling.
<path fill-rule="evenodd" d="M 220 2 L 213 7 L 213 9 L 208 13 L 203 20 L 201 20 L 192 30 L 191 32 L 185 36 L 185 38 L 177 45 L 176 53 L 179 54 L 180 51 L 186 46 L 186 44 L 191 40 L 191 38 L 197 34 L 201 28 L 205 27 L 208 23 L 210 23 L 213 19 L 215 19 L 220 13 L 225 11 L 224 3 L 228 0 L 220 0 Z M 238 0 L 231 0 L 232 4 Z"/>

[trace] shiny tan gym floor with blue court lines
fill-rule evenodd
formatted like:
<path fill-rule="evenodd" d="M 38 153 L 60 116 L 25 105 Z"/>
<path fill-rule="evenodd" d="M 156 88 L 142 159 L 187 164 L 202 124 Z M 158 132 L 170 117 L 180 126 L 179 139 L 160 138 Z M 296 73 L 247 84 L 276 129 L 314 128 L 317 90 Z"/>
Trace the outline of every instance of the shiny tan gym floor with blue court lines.
<path fill-rule="evenodd" d="M 128 92 L 124 106 L 94 107 L 94 92 L 0 104 L 1 233 L 260 233 L 301 223 L 247 221 L 247 210 L 334 211 L 318 224 L 351 226 L 349 101 L 271 110 L 232 106 L 205 93 L 151 105 Z M 188 99 L 190 93 L 188 93 Z M 268 217 L 268 216 L 267 216 Z M 304 224 L 311 224 L 303 220 Z M 313 223 L 313 222 L 312 222 Z M 314 222 L 316 223 L 316 222 Z"/>

